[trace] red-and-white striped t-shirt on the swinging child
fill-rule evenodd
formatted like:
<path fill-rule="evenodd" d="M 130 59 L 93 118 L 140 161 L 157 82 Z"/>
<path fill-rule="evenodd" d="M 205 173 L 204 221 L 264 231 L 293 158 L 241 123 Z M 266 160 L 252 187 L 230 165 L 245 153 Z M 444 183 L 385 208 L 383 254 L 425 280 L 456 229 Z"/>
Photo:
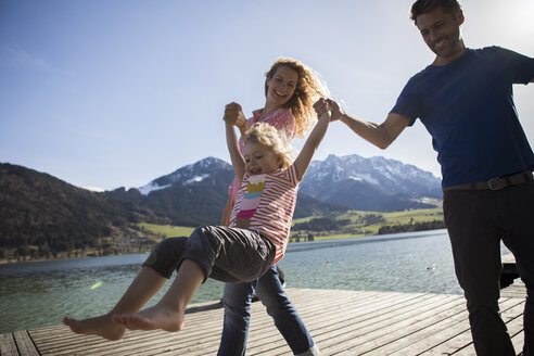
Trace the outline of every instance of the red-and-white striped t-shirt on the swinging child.
<path fill-rule="evenodd" d="M 272 264 L 283 257 L 288 246 L 298 183 L 292 165 L 270 174 L 245 174 L 238 190 L 229 226 L 267 236 L 276 246 Z"/>

